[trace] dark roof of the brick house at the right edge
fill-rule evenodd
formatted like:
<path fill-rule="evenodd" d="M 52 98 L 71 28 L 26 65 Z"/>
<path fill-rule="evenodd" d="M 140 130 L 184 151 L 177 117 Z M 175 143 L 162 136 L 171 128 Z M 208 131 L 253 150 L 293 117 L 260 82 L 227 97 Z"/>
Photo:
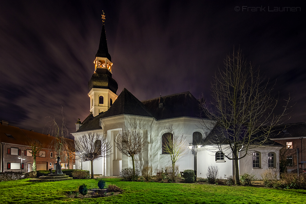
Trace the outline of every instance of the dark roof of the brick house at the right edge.
<path fill-rule="evenodd" d="M 306 137 L 306 122 L 290 123 L 275 126 L 271 138 Z"/>

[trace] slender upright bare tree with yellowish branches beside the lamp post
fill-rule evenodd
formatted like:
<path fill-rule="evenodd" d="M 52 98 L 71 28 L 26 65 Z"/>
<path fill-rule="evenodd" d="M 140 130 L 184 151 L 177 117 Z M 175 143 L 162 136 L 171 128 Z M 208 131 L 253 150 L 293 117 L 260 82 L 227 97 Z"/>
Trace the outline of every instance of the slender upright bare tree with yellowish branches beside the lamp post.
<path fill-rule="evenodd" d="M 168 155 L 172 163 L 172 173 L 175 171 L 175 162 L 188 152 L 188 141 L 183 135 L 177 136 L 174 133 L 173 124 L 166 126 L 166 132 L 162 138 L 162 151 Z"/>

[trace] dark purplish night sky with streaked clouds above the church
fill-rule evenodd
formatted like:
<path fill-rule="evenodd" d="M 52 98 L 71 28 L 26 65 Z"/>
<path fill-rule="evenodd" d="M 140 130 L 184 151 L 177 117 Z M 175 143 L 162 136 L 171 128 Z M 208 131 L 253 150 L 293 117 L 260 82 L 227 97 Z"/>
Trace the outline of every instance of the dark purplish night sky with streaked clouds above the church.
<path fill-rule="evenodd" d="M 300 8 L 272 11 L 284 6 Z M 306 121 L 302 3 L 178 0 L 0 1 L 0 120 L 43 132 L 46 117 L 63 109 L 75 132 L 89 114 L 102 10 L 117 95 L 124 87 L 139 100 L 190 91 L 209 101 L 235 46 L 276 82 L 280 105 L 290 93 L 287 123 Z"/>

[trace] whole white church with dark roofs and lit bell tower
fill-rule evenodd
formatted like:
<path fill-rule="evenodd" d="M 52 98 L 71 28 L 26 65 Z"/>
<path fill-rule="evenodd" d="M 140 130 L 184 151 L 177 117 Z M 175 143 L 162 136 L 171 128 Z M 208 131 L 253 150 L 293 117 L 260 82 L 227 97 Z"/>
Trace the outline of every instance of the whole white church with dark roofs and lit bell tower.
<path fill-rule="evenodd" d="M 203 128 L 203 123 L 210 123 L 200 111 L 200 100 L 190 92 L 139 101 L 127 89 L 117 96 L 118 83 L 112 78 L 112 66 L 108 53 L 104 24 L 102 26 L 99 49 L 95 55 L 94 73 L 88 83 L 90 96 L 90 114 L 84 121 L 78 120 L 76 132 L 78 138 L 88 132 L 99 133 L 113 145 L 113 154 L 108 158 L 93 161 L 95 174 L 119 176 L 121 169 L 132 167 L 132 159 L 122 155 L 115 147 L 114 140 L 125 127 L 136 127 L 147 140 L 142 154 L 135 156 L 135 166 L 140 170 L 145 165 L 153 168 L 171 165 L 169 154 L 163 152 L 163 135 L 167 126 L 173 126 L 175 135 L 186 137 L 187 154 L 181 156 L 176 164 L 180 171 L 194 169 L 193 150 L 189 143 L 203 144 L 197 149 L 197 176 L 206 178 L 210 165 L 219 167 L 219 177 L 233 175 L 233 160 L 228 160 L 222 153 L 212 151 L 214 145 L 206 143 L 210 133 Z M 84 96 L 85 97 L 85 96 Z M 205 145 L 207 144 L 207 145 Z M 240 174 L 245 172 L 261 178 L 260 173 L 268 168 L 279 172 L 279 150 L 282 145 L 276 143 L 269 147 L 251 150 L 249 155 L 239 160 Z M 76 161 L 76 168 L 91 170 L 90 161 Z"/>

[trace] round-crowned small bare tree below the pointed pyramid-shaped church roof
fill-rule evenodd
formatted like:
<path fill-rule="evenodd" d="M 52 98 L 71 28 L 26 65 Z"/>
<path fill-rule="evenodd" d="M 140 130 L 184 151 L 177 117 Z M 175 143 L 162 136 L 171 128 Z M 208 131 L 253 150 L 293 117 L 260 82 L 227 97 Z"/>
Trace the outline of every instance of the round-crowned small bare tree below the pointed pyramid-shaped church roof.
<path fill-rule="evenodd" d="M 116 139 L 114 140 L 116 148 L 127 157 L 132 158 L 133 163 L 133 175 L 135 175 L 135 161 L 134 156 L 144 151 L 144 147 L 147 144 L 144 135 L 135 127 L 124 128 L 119 131 Z"/>

